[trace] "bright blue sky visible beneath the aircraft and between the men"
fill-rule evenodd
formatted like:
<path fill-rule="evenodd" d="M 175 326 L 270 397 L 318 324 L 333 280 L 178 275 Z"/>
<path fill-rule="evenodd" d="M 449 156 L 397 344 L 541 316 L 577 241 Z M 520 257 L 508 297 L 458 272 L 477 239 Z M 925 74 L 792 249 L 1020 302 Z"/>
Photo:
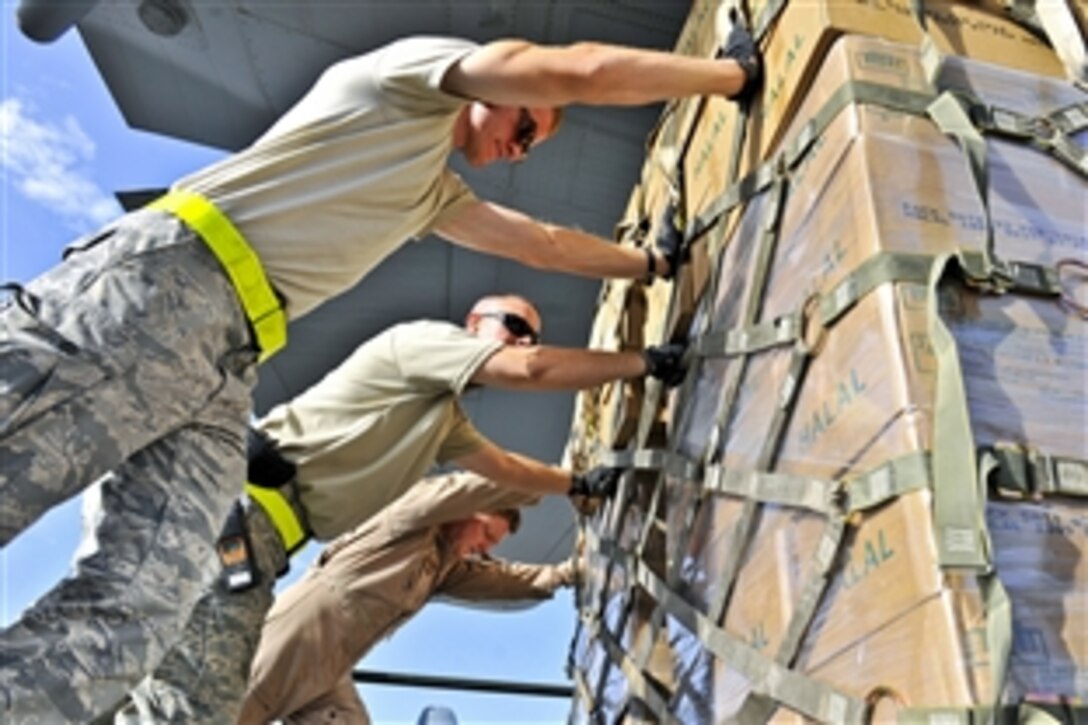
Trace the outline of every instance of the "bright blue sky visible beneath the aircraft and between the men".
<path fill-rule="evenodd" d="M 120 213 L 119 189 L 166 186 L 221 152 L 128 128 L 73 32 L 36 45 L 3 4 L 0 39 L 0 281 L 27 281 L 64 246 Z M 52 511 L 0 552 L 0 623 L 7 624 L 69 569 L 79 501 Z M 317 553 L 304 551 L 289 582 Z M 282 582 L 283 583 L 283 582 Z M 569 591 L 526 611 L 494 613 L 432 604 L 376 647 L 367 669 L 564 683 L 573 629 Z M 568 703 L 546 698 L 364 687 L 375 723 L 415 722 L 444 704 L 467 723 L 557 723 Z"/>

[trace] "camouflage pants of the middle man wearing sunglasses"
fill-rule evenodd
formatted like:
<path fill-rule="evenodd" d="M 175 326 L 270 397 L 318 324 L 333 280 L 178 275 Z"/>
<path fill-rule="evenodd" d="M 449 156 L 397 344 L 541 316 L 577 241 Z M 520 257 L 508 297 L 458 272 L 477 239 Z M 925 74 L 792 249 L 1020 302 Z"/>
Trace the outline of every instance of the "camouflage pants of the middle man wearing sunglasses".
<path fill-rule="evenodd" d="M 276 574 L 286 565 L 283 542 L 257 504 L 246 502 L 246 528 L 259 572 L 256 587 L 230 592 L 222 578 L 193 610 L 185 634 L 154 674 L 128 695 L 114 723 L 233 723 L 249 680 L 249 665 L 272 607 Z"/>

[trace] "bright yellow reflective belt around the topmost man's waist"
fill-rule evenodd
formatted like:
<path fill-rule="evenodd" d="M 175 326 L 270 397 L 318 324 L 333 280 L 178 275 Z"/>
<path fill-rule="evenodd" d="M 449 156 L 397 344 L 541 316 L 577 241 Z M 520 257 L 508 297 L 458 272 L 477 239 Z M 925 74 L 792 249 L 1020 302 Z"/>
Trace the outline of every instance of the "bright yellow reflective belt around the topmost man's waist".
<path fill-rule="evenodd" d="M 261 260 L 237 228 L 211 201 L 193 192 L 170 192 L 148 205 L 176 214 L 223 266 L 261 348 L 260 360 L 287 344 L 287 316 L 264 275 Z"/>

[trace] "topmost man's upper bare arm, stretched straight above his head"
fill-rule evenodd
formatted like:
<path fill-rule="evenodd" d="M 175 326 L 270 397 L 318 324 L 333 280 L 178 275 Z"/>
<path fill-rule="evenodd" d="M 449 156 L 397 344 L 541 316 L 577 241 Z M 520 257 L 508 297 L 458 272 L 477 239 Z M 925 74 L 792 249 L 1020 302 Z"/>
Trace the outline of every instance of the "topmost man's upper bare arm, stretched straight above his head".
<path fill-rule="evenodd" d="M 466 56 L 442 86 L 503 106 L 643 106 L 695 95 L 732 97 L 745 74 L 734 60 L 596 42 L 537 46 L 498 40 Z"/>

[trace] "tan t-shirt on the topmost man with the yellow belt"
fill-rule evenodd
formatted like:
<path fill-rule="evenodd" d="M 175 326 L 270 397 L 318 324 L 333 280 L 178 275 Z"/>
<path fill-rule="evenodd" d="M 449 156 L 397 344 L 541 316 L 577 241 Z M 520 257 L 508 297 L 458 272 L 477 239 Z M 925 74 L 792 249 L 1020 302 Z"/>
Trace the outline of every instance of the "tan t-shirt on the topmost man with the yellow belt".
<path fill-rule="evenodd" d="M 475 199 L 446 168 L 475 44 L 409 38 L 329 67 L 252 146 L 180 180 L 223 211 L 300 317 Z"/>

